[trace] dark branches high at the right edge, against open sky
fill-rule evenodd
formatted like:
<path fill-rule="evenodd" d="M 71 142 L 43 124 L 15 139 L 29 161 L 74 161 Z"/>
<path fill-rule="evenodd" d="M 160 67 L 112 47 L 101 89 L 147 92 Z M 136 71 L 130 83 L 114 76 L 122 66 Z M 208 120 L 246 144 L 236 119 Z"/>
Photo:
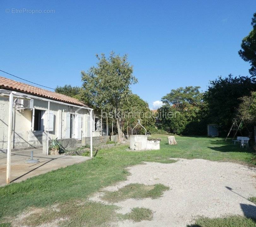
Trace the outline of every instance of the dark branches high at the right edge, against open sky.
<path fill-rule="evenodd" d="M 250 62 L 249 73 L 252 76 L 256 76 L 256 12 L 253 14 L 251 25 L 253 30 L 243 38 L 238 54 L 244 61 Z"/>

